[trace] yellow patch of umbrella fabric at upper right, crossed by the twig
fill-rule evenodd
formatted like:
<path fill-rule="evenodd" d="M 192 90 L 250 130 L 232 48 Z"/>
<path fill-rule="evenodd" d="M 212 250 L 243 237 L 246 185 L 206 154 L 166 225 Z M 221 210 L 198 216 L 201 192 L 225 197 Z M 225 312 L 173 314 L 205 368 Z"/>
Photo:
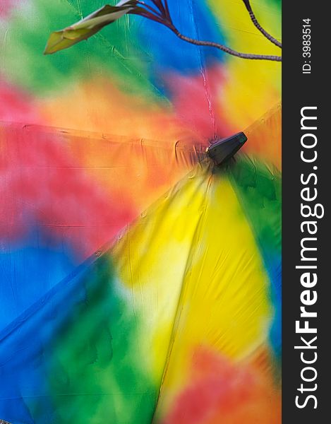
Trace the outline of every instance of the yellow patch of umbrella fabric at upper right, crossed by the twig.
<path fill-rule="evenodd" d="M 228 47 L 243 53 L 282 55 L 282 50 L 255 28 L 243 1 L 208 0 L 207 3 L 212 13 L 219 16 L 221 28 L 226 30 L 224 44 Z M 251 6 L 263 28 L 281 41 L 281 13 L 277 5 L 260 0 L 251 1 Z M 281 73 L 279 62 L 227 57 L 218 107 L 224 119 L 233 124 L 234 131 L 239 130 L 239 122 L 243 129 L 251 124 L 253 116 L 262 116 L 270 105 L 279 102 Z"/>

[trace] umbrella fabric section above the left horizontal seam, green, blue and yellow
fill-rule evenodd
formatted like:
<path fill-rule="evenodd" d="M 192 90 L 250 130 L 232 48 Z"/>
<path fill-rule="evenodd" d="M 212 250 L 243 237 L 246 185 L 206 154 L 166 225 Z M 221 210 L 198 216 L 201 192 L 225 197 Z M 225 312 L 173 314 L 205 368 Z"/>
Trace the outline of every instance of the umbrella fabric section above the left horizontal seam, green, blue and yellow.
<path fill-rule="evenodd" d="M 184 35 L 243 52 L 279 54 L 253 26 L 242 1 L 168 3 Z M 189 45 L 139 16 L 121 18 L 87 42 L 42 56 L 53 30 L 103 4 L 1 2 L 0 93 L 6 102 L 0 119 L 148 139 L 174 140 L 179 133 L 209 139 L 246 128 L 279 102 L 280 64 Z M 280 1 L 252 4 L 279 38 Z"/>

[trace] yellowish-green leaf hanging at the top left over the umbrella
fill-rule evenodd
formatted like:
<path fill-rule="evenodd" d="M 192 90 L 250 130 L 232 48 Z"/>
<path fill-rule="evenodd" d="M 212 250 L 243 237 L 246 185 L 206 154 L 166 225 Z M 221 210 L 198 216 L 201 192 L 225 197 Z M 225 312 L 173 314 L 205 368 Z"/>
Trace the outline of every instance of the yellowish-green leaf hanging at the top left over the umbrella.
<path fill-rule="evenodd" d="M 104 26 L 113 23 L 129 11 L 133 11 L 135 6 L 136 0 L 120 1 L 116 6 L 106 4 L 86 18 L 64 28 L 64 30 L 54 31 L 49 36 L 44 54 L 59 52 L 59 50 L 68 49 L 68 47 L 76 45 L 82 40 L 87 40 Z"/>

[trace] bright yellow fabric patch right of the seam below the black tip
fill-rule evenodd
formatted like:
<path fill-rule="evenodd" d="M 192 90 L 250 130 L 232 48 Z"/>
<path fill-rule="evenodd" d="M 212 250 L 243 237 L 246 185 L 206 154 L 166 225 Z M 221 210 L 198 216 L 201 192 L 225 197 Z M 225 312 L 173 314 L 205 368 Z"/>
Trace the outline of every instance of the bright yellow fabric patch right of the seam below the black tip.
<path fill-rule="evenodd" d="M 158 413 L 191 377 L 198 346 L 241 360 L 267 339 L 272 309 L 267 275 L 227 177 L 212 175 L 192 240 Z"/>

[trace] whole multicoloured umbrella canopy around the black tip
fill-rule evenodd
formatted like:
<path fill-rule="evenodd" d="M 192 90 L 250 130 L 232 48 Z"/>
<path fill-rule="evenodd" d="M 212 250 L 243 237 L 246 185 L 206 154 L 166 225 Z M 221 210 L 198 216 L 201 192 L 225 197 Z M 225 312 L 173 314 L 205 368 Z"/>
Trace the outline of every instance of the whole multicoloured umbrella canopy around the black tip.
<path fill-rule="evenodd" d="M 183 32 L 277 49 L 240 2 L 169 5 Z M 140 17 L 42 57 L 102 4 L 5 6 L 0 417 L 279 423 L 279 107 L 258 119 L 279 64 Z M 246 155 L 213 169 L 208 141 L 252 122 Z"/>

